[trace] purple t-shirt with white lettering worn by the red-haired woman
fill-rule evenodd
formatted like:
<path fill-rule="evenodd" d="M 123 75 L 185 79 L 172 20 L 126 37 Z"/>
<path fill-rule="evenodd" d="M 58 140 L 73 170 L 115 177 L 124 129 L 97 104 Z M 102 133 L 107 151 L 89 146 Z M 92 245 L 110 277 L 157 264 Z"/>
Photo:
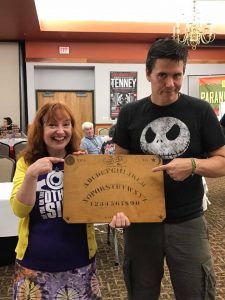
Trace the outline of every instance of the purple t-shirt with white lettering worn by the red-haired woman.
<path fill-rule="evenodd" d="M 68 224 L 62 218 L 63 167 L 63 163 L 54 164 L 51 173 L 38 178 L 36 203 L 30 213 L 28 247 L 19 261 L 24 267 L 62 272 L 91 262 L 86 224 Z"/>

